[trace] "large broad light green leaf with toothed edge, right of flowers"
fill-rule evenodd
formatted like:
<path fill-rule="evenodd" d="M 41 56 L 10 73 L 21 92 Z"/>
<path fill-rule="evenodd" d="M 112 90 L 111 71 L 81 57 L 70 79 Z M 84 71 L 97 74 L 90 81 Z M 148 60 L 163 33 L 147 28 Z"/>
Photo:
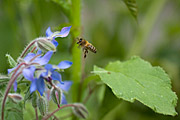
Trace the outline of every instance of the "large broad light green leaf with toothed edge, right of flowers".
<path fill-rule="evenodd" d="M 177 96 L 165 71 L 139 57 L 126 62 L 116 61 L 106 69 L 94 66 L 94 73 L 118 97 L 129 102 L 140 101 L 157 113 L 175 116 Z"/>

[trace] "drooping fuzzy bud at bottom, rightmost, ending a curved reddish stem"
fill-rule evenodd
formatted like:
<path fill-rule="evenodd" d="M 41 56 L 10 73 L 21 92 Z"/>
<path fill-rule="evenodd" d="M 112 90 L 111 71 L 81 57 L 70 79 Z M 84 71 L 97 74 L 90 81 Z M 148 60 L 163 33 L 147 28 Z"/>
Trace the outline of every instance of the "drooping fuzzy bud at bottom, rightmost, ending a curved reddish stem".
<path fill-rule="evenodd" d="M 73 107 L 73 113 L 79 118 L 86 119 L 88 117 L 88 110 L 83 104 L 75 103 L 75 107 Z"/>

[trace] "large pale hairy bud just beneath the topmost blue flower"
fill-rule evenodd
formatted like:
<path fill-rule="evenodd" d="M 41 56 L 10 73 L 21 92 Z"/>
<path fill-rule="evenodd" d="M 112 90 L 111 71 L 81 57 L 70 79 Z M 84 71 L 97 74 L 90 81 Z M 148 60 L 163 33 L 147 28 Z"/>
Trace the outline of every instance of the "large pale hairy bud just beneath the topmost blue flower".
<path fill-rule="evenodd" d="M 40 37 L 36 39 L 36 45 L 44 52 L 53 51 L 56 52 L 56 46 L 48 40 L 47 37 Z"/>

